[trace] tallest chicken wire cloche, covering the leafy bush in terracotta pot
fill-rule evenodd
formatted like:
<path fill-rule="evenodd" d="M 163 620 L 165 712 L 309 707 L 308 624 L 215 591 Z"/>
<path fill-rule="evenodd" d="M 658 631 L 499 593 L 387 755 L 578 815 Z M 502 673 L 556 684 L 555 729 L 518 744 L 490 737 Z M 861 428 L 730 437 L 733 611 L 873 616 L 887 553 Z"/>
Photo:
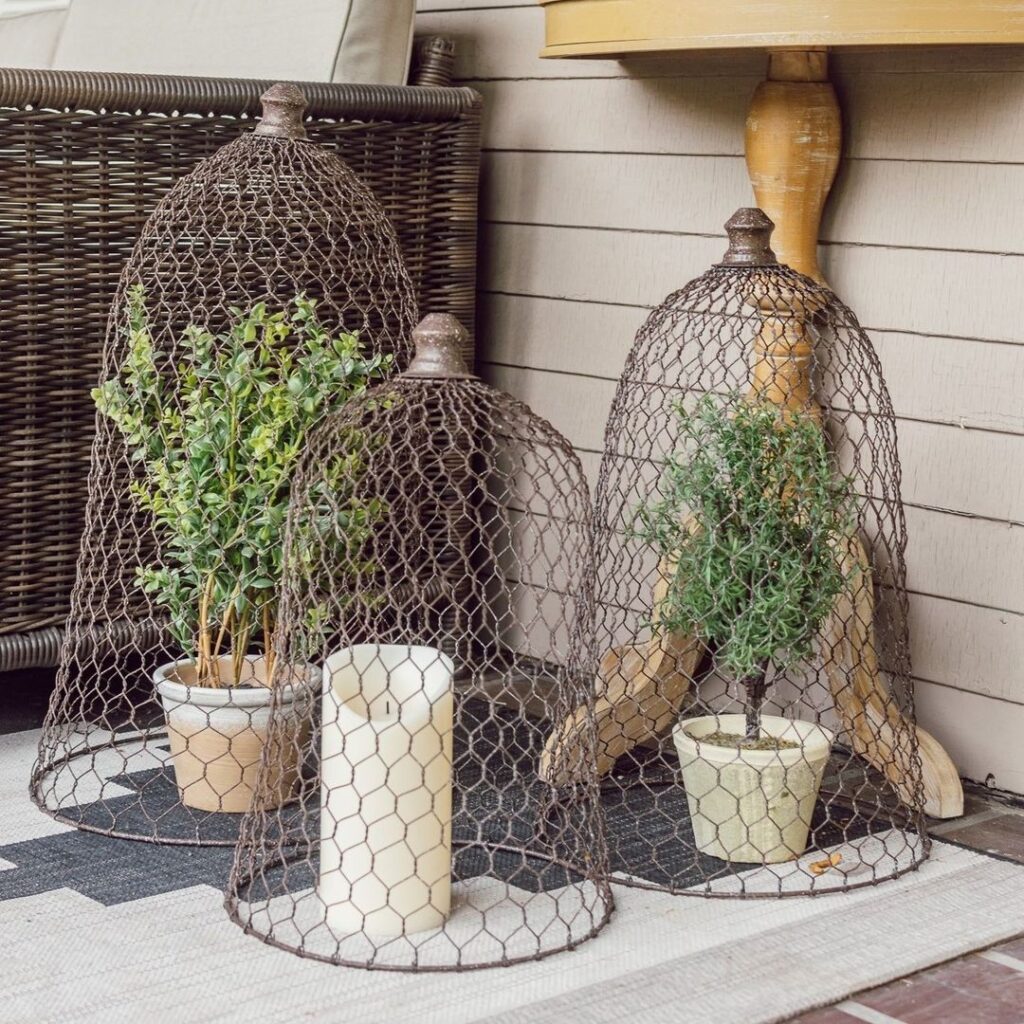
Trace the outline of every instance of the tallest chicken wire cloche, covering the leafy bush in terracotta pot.
<path fill-rule="evenodd" d="M 369 189 L 276 85 L 158 204 L 104 344 L 86 526 L 37 804 L 231 845 L 268 720 L 288 475 L 309 427 L 407 356 L 415 299 Z"/>

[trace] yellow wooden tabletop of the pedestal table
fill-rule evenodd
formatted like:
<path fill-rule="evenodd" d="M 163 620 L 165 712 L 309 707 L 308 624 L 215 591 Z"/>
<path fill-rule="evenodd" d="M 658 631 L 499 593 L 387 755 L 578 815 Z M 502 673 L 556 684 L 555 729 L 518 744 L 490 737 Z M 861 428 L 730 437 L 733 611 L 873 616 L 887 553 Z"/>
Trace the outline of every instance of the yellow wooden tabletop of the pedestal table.
<path fill-rule="evenodd" d="M 540 0 L 546 57 L 1024 43 L 1024 0 Z"/>

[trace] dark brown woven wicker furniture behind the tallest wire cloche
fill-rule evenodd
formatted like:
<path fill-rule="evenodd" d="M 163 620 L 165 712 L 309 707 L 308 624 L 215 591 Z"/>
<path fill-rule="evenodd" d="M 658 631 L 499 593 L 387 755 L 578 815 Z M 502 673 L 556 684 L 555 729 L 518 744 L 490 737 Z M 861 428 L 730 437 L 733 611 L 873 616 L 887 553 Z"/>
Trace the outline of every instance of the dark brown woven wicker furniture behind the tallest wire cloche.
<path fill-rule="evenodd" d="M 443 45 L 419 47 L 442 80 Z M 270 83 L 0 70 L 0 672 L 54 665 L 84 518 L 111 300 L 157 200 L 247 129 Z M 479 97 L 303 83 L 395 228 L 421 308 L 472 325 Z M 471 356 L 471 352 L 467 355 Z"/>

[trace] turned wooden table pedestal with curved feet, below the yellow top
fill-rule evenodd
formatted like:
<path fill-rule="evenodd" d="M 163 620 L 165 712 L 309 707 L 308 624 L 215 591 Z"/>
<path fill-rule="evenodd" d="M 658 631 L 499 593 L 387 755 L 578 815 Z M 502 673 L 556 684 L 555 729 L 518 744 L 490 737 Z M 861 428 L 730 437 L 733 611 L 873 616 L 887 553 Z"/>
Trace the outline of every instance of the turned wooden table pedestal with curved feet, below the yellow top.
<path fill-rule="evenodd" d="M 824 283 L 818 265 L 821 213 L 839 167 L 842 121 L 828 81 L 824 50 L 779 50 L 770 54 L 768 78 L 754 94 L 746 120 L 746 164 L 758 206 L 774 221 L 772 246 L 780 262 Z M 813 345 L 804 322 L 762 301 L 763 326 L 755 341 L 752 393 L 820 419 L 811 393 Z M 807 317 L 814 310 L 802 309 Z M 836 708 L 857 753 L 895 785 L 908 802 L 914 793 L 910 724 L 896 708 L 879 670 L 870 565 L 862 541 L 850 538 L 848 558 L 866 581 L 839 602 L 827 625 L 826 673 Z M 652 606 L 664 596 L 667 573 L 658 573 Z M 856 605 L 856 607 L 854 607 Z M 656 628 L 643 645 L 605 652 L 596 684 L 598 771 L 651 736 L 668 731 L 690 686 L 702 653 L 691 637 Z M 587 756 L 588 710 L 556 725 L 541 760 L 541 774 L 555 784 L 574 778 L 573 765 Z M 925 730 L 916 729 L 925 809 L 935 817 L 963 813 L 964 792 L 949 756 Z"/>

